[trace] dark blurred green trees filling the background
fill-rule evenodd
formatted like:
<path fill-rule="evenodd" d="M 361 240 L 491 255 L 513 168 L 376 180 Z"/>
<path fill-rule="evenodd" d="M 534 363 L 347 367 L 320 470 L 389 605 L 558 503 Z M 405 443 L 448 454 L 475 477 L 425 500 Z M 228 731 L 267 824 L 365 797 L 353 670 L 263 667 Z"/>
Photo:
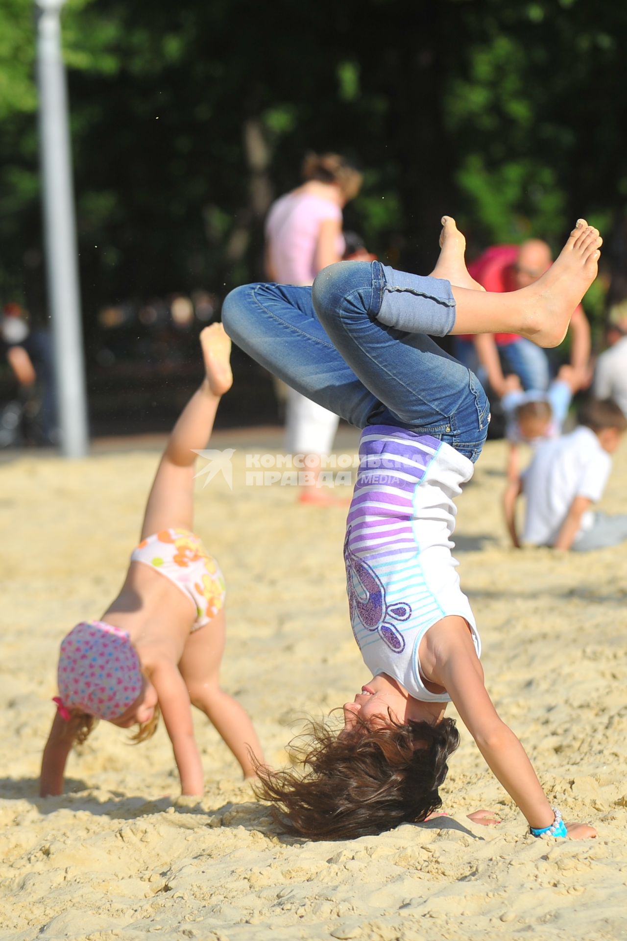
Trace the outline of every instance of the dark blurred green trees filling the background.
<path fill-rule="evenodd" d="M 32 5 L 0 4 L 0 295 L 43 311 Z M 259 277 L 309 149 L 360 160 L 347 223 L 410 269 L 444 212 L 476 251 L 623 214 L 625 5 L 70 0 L 63 23 L 88 322 Z"/>

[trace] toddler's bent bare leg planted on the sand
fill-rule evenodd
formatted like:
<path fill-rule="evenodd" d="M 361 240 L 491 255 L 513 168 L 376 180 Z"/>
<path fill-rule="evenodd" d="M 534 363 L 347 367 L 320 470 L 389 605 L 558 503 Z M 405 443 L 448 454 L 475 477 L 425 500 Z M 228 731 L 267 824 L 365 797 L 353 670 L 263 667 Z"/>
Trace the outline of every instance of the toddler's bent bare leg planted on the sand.
<path fill-rule="evenodd" d="M 225 615 L 190 634 L 180 659 L 180 675 L 192 704 L 205 713 L 240 762 L 244 777 L 254 777 L 255 760 L 263 753 L 250 716 L 243 706 L 220 689 L 218 674 L 225 648 Z"/>

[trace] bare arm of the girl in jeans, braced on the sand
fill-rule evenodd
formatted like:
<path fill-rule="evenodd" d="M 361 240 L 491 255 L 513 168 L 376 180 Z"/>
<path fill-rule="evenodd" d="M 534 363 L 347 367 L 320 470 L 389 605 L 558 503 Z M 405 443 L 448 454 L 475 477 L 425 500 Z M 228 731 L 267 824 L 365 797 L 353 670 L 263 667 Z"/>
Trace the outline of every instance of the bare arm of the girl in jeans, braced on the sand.
<path fill-rule="evenodd" d="M 494 709 L 465 622 L 463 628 L 459 624 L 443 627 L 436 636 L 435 682 L 447 690 L 481 755 L 525 814 L 529 826 L 538 829 L 550 826 L 554 821 L 551 805 L 523 745 Z M 596 836 L 595 831 L 585 824 L 569 824 L 569 834 L 572 837 Z"/>

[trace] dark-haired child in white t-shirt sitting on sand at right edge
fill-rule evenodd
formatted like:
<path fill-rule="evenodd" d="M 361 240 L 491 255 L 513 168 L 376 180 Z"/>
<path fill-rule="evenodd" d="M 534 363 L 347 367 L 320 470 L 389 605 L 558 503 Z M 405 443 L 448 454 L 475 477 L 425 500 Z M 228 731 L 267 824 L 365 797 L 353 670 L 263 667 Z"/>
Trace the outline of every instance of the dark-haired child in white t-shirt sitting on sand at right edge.
<path fill-rule="evenodd" d="M 520 546 L 515 503 L 521 493 L 526 497 L 525 543 L 585 551 L 627 539 L 627 515 L 607 517 L 590 510 L 603 495 L 610 455 L 625 430 L 627 419 L 612 399 L 591 399 L 570 435 L 541 443 L 517 484 L 509 484 L 513 499 L 506 501 L 506 518 L 514 546 Z"/>

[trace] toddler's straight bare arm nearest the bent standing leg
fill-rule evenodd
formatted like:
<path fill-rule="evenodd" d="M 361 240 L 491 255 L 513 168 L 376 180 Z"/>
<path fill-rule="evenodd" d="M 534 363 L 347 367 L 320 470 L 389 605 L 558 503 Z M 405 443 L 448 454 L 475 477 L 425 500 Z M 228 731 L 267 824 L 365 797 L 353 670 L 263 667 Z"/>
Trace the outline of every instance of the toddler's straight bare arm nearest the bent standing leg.
<path fill-rule="evenodd" d="M 172 742 L 180 775 L 180 791 L 182 794 L 202 795 L 202 763 L 194 738 L 192 704 L 185 682 L 172 662 L 157 664 L 150 671 L 149 678 L 157 691 L 165 728 Z"/>

